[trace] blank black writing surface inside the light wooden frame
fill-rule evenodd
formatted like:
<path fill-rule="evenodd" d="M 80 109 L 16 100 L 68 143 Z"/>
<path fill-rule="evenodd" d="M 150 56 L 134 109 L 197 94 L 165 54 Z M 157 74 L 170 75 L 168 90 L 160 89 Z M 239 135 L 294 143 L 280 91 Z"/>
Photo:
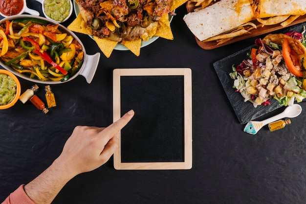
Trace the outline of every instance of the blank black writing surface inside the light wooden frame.
<path fill-rule="evenodd" d="M 121 131 L 121 161 L 184 161 L 183 76 L 121 76 L 121 90 L 121 114 L 135 112 Z"/>

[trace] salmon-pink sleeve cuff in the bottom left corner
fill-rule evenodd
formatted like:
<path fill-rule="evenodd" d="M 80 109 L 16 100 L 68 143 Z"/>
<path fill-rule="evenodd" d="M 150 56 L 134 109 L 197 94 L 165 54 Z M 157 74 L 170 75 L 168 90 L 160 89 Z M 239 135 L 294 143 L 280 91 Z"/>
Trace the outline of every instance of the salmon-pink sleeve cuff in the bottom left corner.
<path fill-rule="evenodd" d="M 24 185 L 19 186 L 2 204 L 35 204 L 24 192 Z"/>

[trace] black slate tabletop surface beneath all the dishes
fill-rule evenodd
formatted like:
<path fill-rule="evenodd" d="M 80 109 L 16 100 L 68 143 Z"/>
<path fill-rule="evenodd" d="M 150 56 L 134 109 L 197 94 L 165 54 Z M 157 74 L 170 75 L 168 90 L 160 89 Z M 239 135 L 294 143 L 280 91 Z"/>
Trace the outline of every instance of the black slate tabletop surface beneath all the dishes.
<path fill-rule="evenodd" d="M 27 4 L 41 12 L 40 3 L 28 0 Z M 173 41 L 159 38 L 143 47 L 139 57 L 130 51 L 114 50 L 109 58 L 101 54 L 91 84 L 79 76 L 51 87 L 58 106 L 49 113 L 21 102 L 0 111 L 0 201 L 44 171 L 59 156 L 76 125 L 108 126 L 112 122 L 114 68 L 191 68 L 192 169 L 115 170 L 111 158 L 100 168 L 69 181 L 53 204 L 306 203 L 305 113 L 276 132 L 263 127 L 255 136 L 244 133 L 244 125 L 213 67 L 213 63 L 252 45 L 255 39 L 204 50 L 182 20 L 187 13 L 185 6 L 175 11 Z M 74 18 L 72 15 L 63 24 Z M 100 52 L 87 35 L 77 35 L 88 54 Z M 22 92 L 33 85 L 20 81 Z M 41 84 L 37 92 L 41 98 L 43 87 Z M 306 108 L 304 102 L 301 106 Z"/>

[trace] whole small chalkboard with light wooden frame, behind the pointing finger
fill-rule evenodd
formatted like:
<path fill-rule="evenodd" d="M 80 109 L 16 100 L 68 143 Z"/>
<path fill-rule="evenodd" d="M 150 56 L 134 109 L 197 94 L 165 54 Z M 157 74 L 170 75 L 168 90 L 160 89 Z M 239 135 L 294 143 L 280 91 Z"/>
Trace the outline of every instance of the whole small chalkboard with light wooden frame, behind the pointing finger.
<path fill-rule="evenodd" d="M 120 131 L 115 169 L 192 168 L 190 68 L 114 69 L 113 121 L 131 109 L 135 115 Z"/>

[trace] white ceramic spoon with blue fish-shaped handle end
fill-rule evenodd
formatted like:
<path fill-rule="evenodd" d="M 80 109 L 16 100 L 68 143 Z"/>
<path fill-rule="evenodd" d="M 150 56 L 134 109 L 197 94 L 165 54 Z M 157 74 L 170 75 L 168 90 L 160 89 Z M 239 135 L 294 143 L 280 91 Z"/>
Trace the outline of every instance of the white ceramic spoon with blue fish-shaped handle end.
<path fill-rule="evenodd" d="M 285 108 L 284 112 L 274 115 L 273 117 L 270 117 L 262 121 L 248 122 L 243 131 L 255 135 L 266 124 L 269 124 L 276 120 L 280 120 L 284 117 L 289 117 L 289 118 L 296 117 L 301 113 L 302 113 L 302 107 L 299 104 L 293 104 L 292 106 L 288 106 L 287 108 Z"/>

